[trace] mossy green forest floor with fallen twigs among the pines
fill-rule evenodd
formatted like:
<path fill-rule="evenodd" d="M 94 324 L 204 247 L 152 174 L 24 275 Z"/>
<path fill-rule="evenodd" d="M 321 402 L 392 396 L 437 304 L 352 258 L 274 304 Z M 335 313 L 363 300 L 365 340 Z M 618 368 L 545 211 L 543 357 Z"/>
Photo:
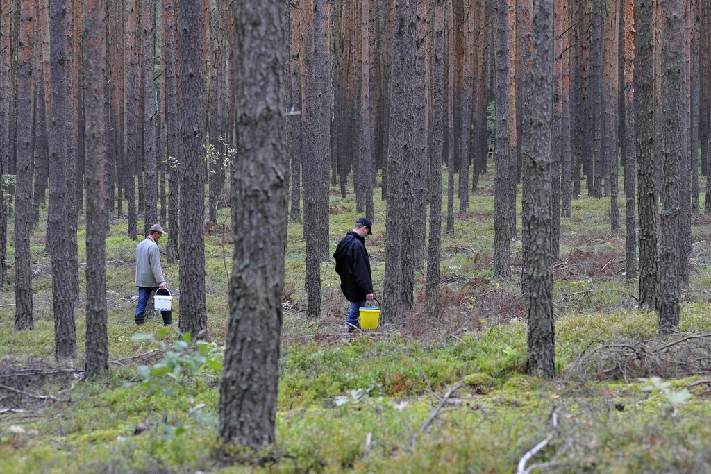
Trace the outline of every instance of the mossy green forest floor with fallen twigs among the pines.
<path fill-rule="evenodd" d="M 711 217 L 693 218 L 680 333 L 658 340 L 656 314 L 636 308 L 636 280 L 625 286 L 624 227 L 609 231 L 609 199 L 575 200 L 572 217 L 561 222 L 555 266 L 559 375 L 544 381 L 523 375 L 520 238 L 511 242 L 513 279 L 491 279 L 492 184 L 485 177 L 456 219 L 454 237 L 443 235 L 438 313 L 423 311 L 424 271 L 417 271 L 417 306 L 405 324 L 375 333 L 343 332 L 347 306 L 333 262 L 321 266 L 324 315 L 306 319 L 306 245 L 301 223 L 289 224 L 277 443 L 262 453 L 225 449 L 217 440 L 229 210 L 206 226 L 209 330 L 199 346 L 178 340 L 176 326 L 163 330 L 160 316 L 134 325 L 137 242 L 124 220 L 112 219 L 111 362 L 95 382 L 82 380 L 82 360 L 58 365 L 53 358 L 43 210 L 31 239 L 34 330 L 13 329 L 12 265 L 0 291 L 0 472 L 711 472 Z M 367 241 L 376 293 L 384 275 L 379 194 Z M 620 215 L 624 225 L 624 199 Z M 332 188 L 331 247 L 357 217 L 353 198 Z M 12 222 L 9 229 L 13 262 Z M 84 238 L 82 222 L 80 262 Z M 178 266 L 164 271 L 178 293 Z M 80 355 L 84 313 L 82 300 Z"/>

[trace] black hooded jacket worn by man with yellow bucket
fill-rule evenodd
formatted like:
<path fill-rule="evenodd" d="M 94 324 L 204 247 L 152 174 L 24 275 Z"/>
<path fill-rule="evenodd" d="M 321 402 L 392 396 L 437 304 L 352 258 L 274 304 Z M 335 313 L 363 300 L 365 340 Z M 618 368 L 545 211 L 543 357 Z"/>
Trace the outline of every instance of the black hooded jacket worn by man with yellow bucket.
<path fill-rule="evenodd" d="M 341 291 L 348 301 L 363 301 L 365 295 L 373 293 L 370 258 L 363 237 L 348 232 L 338 242 L 333 258 L 336 259 L 336 273 L 341 276 Z"/>

